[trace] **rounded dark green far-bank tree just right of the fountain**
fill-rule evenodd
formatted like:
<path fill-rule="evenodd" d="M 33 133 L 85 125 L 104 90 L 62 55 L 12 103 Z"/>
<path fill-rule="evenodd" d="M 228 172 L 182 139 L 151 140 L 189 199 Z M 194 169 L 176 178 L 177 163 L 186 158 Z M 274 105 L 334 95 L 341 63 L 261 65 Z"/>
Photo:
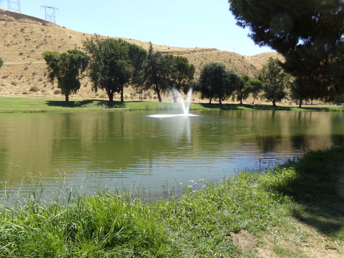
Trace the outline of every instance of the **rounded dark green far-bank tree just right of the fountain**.
<path fill-rule="evenodd" d="M 234 71 L 227 71 L 224 64 L 214 62 L 202 67 L 200 77 L 192 86 L 194 91 L 201 93 L 202 99 L 208 98 L 211 103 L 213 98 L 218 98 L 219 104 L 222 104 L 222 100 L 232 95 L 239 80 Z"/>

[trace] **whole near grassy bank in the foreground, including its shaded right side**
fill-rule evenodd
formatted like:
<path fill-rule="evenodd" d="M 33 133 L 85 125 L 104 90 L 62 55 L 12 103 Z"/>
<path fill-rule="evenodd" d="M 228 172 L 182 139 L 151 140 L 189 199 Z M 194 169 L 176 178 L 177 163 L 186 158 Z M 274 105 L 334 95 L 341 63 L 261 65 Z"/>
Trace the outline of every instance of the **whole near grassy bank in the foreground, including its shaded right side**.
<path fill-rule="evenodd" d="M 61 189 L 54 201 L 37 191 L 1 206 L 0 256 L 344 256 L 344 147 L 191 189 L 169 199 Z M 251 246 L 234 244 L 239 232 Z"/>

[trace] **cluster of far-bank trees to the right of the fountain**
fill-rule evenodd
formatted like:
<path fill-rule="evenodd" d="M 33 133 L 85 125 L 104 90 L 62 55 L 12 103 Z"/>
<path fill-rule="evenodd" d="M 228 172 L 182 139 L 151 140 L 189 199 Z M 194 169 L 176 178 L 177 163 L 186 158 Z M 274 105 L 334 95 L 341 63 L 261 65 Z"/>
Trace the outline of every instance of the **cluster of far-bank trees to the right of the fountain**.
<path fill-rule="evenodd" d="M 250 78 L 247 74 L 237 75 L 233 70 L 227 71 L 221 63 L 208 63 L 201 69 L 200 78 L 191 83 L 194 91 L 201 93 L 201 98 L 223 100 L 232 97 L 243 104 L 249 95 L 253 103 L 261 93 L 262 99 L 267 99 L 276 106 L 276 102 L 286 97 L 286 88 L 289 86 L 289 76 L 284 73 L 278 59 L 270 57 L 256 77 Z"/>

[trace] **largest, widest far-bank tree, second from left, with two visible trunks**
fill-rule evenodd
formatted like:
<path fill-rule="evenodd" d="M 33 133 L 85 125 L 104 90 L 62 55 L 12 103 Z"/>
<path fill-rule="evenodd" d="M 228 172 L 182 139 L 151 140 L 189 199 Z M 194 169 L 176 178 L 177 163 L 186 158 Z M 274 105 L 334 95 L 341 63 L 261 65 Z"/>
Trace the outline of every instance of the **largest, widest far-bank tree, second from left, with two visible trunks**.
<path fill-rule="evenodd" d="M 104 40 L 98 35 L 86 39 L 83 45 L 90 56 L 92 89 L 105 89 L 109 101 L 114 100 L 114 93 L 120 93 L 123 101 L 123 88 L 139 76 L 147 51 L 121 39 Z"/>

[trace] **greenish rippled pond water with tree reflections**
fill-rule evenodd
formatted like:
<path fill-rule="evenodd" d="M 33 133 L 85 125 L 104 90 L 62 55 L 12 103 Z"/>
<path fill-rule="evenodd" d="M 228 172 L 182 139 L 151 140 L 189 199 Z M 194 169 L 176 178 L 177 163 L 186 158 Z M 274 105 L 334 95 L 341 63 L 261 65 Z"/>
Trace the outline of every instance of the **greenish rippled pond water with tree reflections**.
<path fill-rule="evenodd" d="M 0 114 L 0 180 L 161 189 L 221 180 L 344 144 L 344 112 L 224 110 Z M 157 115 L 157 116 L 152 116 Z M 33 180 L 33 179 L 31 179 Z M 29 186 L 25 186 L 29 184 Z M 0 189 L 3 191 L 3 188 Z"/>

